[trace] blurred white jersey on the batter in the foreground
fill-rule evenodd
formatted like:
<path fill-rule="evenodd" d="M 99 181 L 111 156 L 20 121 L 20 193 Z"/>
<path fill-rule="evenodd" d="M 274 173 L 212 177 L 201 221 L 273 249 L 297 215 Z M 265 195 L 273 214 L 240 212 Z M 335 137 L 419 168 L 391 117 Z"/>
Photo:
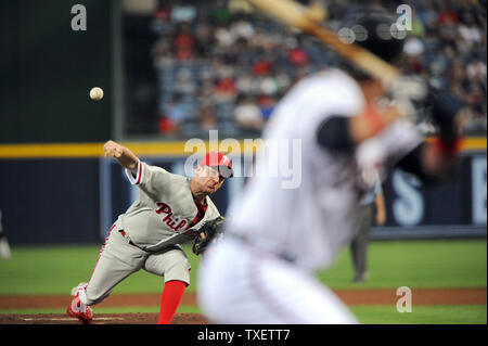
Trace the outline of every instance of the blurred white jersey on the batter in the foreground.
<path fill-rule="evenodd" d="M 285 189 L 284 178 L 272 177 L 290 154 L 258 155 L 256 176 L 230 206 L 229 232 L 241 234 L 258 247 L 291 258 L 305 269 L 331 265 L 352 236 L 359 201 L 385 165 L 401 158 L 422 140 L 407 120 L 397 120 L 350 152 L 319 145 L 317 132 L 331 116 L 362 113 L 365 100 L 348 75 L 331 69 L 295 86 L 278 104 L 264 139 L 301 143 L 301 182 Z"/>

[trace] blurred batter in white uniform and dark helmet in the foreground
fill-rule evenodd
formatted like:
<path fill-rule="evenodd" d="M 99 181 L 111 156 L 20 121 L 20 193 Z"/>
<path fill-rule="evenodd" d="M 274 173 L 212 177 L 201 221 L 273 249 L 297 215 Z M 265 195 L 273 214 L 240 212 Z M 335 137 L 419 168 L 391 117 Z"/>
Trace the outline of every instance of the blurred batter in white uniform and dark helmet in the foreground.
<path fill-rule="evenodd" d="M 393 21 L 382 11 L 357 18 L 370 34 L 359 43 L 391 63 L 402 41 L 378 42 L 375 29 Z M 345 64 L 303 79 L 280 101 L 262 137 L 300 140 L 301 183 L 283 188 L 270 171 L 280 155 L 267 163 L 258 155 L 258 171 L 231 203 L 223 240 L 201 261 L 198 304 L 209 321 L 358 322 L 316 272 L 349 243 L 359 203 L 377 177 L 400 167 L 435 181 L 452 170 L 459 143 L 452 98 L 431 90 L 427 103 L 439 133 L 427 143 L 399 111 L 375 104 L 384 92 L 378 81 Z"/>

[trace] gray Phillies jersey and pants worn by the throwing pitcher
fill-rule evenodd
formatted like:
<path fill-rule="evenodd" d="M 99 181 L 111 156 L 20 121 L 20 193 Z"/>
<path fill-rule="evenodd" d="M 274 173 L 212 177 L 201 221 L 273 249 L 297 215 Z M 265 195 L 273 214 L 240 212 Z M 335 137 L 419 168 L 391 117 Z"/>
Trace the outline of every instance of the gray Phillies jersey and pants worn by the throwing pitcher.
<path fill-rule="evenodd" d="M 105 299 L 128 275 L 144 269 L 190 284 L 190 262 L 181 244 L 192 241 L 200 227 L 220 216 L 211 200 L 197 207 L 190 180 L 139 162 L 127 178 L 140 189 L 139 197 L 112 226 L 93 273 L 80 299 L 93 305 Z"/>

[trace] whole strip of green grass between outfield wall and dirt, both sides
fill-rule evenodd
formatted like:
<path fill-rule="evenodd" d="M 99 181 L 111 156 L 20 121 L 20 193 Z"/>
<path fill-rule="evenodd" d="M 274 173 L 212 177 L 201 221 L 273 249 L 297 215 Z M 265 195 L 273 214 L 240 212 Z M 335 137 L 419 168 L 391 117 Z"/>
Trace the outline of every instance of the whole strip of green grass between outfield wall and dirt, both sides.
<path fill-rule="evenodd" d="M 0 260 L 0 295 L 69 294 L 73 286 L 88 281 L 99 251 L 99 245 L 13 247 L 12 259 Z M 200 258 L 189 248 L 187 254 L 192 265 L 189 291 L 194 292 Z M 320 278 L 332 289 L 486 287 L 486 240 L 372 242 L 369 273 L 364 284 L 351 283 L 346 249 Z M 162 289 L 162 278 L 141 270 L 114 293 L 160 293 Z"/>

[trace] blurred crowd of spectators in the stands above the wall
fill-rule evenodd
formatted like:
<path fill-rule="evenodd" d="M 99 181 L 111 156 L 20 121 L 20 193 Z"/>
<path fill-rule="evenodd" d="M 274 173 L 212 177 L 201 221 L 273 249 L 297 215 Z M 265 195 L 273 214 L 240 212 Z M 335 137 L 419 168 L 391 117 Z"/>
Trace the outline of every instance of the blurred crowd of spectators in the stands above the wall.
<path fill-rule="evenodd" d="M 326 8 L 324 26 L 334 30 L 350 10 L 350 1 L 316 2 Z M 486 132 L 486 5 L 474 0 L 384 5 L 395 13 L 401 3 L 413 14 L 402 71 L 465 100 L 468 129 Z M 159 85 L 157 131 L 165 136 L 208 129 L 257 134 L 294 82 L 338 59 L 310 36 L 256 15 L 243 0 L 159 0 L 151 28 L 158 37 L 152 49 Z"/>

